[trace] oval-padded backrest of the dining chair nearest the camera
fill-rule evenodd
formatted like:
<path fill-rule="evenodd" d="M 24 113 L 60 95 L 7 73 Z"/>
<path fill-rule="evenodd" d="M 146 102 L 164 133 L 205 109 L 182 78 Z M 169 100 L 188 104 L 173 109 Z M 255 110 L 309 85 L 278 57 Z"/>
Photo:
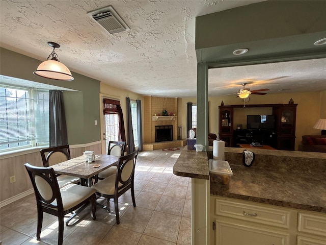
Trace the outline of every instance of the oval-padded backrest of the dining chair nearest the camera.
<path fill-rule="evenodd" d="M 52 167 L 37 167 L 29 163 L 24 164 L 31 178 L 38 205 L 62 211 L 61 193 Z"/>

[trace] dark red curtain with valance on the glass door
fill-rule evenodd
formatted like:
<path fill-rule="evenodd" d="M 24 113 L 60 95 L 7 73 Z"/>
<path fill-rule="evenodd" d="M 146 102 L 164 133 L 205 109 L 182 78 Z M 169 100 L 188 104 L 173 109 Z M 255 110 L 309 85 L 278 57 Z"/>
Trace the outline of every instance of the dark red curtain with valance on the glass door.
<path fill-rule="evenodd" d="M 124 130 L 124 121 L 122 109 L 120 106 L 120 101 L 111 100 L 111 99 L 103 99 L 103 114 L 118 114 L 119 117 L 119 141 L 126 141 L 126 133 Z"/>

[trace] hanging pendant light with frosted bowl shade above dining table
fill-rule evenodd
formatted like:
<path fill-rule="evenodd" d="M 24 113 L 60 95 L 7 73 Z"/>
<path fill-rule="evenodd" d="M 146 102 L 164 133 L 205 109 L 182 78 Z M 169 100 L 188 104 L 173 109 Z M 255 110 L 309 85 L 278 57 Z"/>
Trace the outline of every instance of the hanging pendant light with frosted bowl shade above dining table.
<path fill-rule="evenodd" d="M 70 70 L 63 63 L 59 62 L 58 55 L 55 52 L 55 48 L 60 47 L 58 43 L 55 42 L 47 42 L 47 44 L 53 47 L 52 53 L 47 57 L 47 60 L 42 62 L 37 70 L 33 72 L 33 74 L 49 79 L 55 80 L 64 80 L 71 81 L 74 78 L 71 76 Z M 52 57 L 50 59 L 50 57 Z"/>

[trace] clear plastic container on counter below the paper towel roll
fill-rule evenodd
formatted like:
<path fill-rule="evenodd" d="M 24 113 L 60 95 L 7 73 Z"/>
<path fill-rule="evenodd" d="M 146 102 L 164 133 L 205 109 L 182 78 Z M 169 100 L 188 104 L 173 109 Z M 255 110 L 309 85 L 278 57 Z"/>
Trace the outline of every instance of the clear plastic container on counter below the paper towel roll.
<path fill-rule="evenodd" d="M 229 162 L 209 159 L 208 165 L 211 182 L 219 184 L 221 189 L 228 190 L 233 175 Z"/>

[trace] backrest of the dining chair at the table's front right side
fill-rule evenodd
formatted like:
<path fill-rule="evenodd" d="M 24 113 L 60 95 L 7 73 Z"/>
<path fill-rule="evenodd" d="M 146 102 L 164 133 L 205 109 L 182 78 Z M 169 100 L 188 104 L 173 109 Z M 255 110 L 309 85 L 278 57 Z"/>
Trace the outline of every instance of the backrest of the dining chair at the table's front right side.
<path fill-rule="evenodd" d="M 116 190 L 118 192 L 133 181 L 137 155 L 138 150 L 119 158 L 116 174 Z"/>

